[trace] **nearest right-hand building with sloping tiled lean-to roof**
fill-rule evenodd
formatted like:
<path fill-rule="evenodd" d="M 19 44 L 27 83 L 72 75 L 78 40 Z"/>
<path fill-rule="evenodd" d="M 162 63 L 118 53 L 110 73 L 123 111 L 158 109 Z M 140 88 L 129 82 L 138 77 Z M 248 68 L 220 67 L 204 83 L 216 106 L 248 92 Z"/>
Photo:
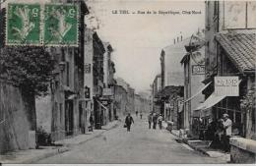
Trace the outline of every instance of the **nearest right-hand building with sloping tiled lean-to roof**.
<path fill-rule="evenodd" d="M 255 83 L 255 29 L 252 16 L 255 2 L 207 2 L 206 3 L 206 80 L 212 82 L 204 94 L 206 99 L 213 94 L 214 78 L 238 77 L 237 96 L 223 95 L 218 102 L 204 109 L 215 119 L 227 113 L 233 121 L 233 132 L 250 138 L 255 131 L 248 131 L 246 123 L 251 115 L 241 110 L 240 99 Z M 235 7 L 235 8 L 232 8 Z M 229 10 L 228 10 L 229 9 Z M 242 12 L 238 12 L 241 10 Z M 254 13 L 253 13 L 254 12 Z M 213 19 L 216 18 L 216 19 Z M 234 18 L 239 18 L 239 22 Z M 225 79 L 225 78 L 224 78 Z M 252 123 L 255 122 L 252 121 Z M 252 128 L 253 129 L 253 128 Z"/>

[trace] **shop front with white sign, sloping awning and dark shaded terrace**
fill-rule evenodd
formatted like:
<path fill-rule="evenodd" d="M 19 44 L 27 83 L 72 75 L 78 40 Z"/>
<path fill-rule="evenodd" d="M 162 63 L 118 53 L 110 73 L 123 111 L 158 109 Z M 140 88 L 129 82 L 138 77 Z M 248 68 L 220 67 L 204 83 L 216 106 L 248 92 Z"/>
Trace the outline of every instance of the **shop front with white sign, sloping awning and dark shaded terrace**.
<path fill-rule="evenodd" d="M 218 131 L 224 131 L 221 129 L 224 114 L 232 121 L 231 136 L 243 136 L 244 114 L 240 109 L 239 96 L 241 80 L 236 76 L 215 77 L 213 85 L 212 94 L 196 108 L 200 113 L 199 119 L 194 118 L 199 138 L 212 139 Z"/>

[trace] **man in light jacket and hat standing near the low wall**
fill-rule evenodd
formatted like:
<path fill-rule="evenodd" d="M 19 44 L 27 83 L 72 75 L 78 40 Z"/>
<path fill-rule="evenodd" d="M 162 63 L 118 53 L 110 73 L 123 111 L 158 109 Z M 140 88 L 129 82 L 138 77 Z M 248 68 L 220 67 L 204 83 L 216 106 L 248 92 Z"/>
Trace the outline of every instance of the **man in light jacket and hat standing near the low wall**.
<path fill-rule="evenodd" d="M 228 152 L 230 150 L 229 138 L 232 134 L 232 121 L 229 119 L 227 114 L 224 114 L 224 151 Z"/>

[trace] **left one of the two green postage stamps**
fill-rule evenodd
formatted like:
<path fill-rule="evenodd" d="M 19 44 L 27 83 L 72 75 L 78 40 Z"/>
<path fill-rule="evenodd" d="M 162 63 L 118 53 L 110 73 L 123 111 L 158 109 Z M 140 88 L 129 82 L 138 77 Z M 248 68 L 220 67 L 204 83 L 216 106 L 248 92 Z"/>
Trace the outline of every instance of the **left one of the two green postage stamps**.
<path fill-rule="evenodd" d="M 6 45 L 40 45 L 40 5 L 8 4 Z"/>

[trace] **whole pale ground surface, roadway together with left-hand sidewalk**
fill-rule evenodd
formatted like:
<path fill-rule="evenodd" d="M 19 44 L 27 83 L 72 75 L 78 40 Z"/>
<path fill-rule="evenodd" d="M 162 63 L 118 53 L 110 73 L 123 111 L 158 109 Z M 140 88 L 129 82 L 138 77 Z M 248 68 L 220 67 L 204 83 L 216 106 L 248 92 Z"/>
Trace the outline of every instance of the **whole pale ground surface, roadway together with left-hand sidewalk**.
<path fill-rule="evenodd" d="M 123 128 L 123 122 L 114 121 L 87 135 L 79 135 L 56 141 L 63 146 L 44 146 L 0 155 L 0 162 L 41 164 L 82 163 L 226 163 L 223 155 L 205 155 L 191 145 L 177 142 L 178 131 L 172 135 L 166 130 L 149 130 L 147 119 L 134 117 L 131 132 Z M 163 124 L 164 127 L 164 124 Z M 176 136 L 175 136 L 176 135 Z"/>

